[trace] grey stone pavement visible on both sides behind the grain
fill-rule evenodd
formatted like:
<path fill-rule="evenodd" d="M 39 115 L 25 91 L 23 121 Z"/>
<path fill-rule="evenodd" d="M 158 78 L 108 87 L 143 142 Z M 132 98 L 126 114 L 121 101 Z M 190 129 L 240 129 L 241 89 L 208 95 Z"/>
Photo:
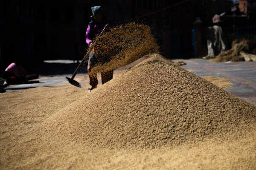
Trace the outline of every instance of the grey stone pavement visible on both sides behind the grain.
<path fill-rule="evenodd" d="M 233 83 L 233 87 L 225 89 L 231 94 L 238 96 L 241 99 L 246 100 L 256 105 L 256 62 L 231 62 L 231 63 L 211 63 L 204 59 L 175 59 L 175 61 L 183 61 L 186 65 L 180 66 L 187 71 L 192 72 L 197 76 L 215 76 L 219 78 L 227 78 Z M 56 62 L 72 64 L 71 61 L 58 60 Z M 52 64 L 52 63 L 51 63 Z M 48 65 L 51 68 L 52 65 Z M 55 66 L 55 65 L 54 65 Z M 63 68 L 64 65 L 61 65 Z M 67 65 L 70 68 L 70 65 Z M 56 75 L 43 75 L 40 76 L 38 83 L 22 84 L 22 85 L 10 85 L 6 91 L 23 90 L 27 88 L 35 88 L 41 86 L 53 86 L 68 84 L 65 77 L 72 77 L 72 73 L 76 66 L 73 65 L 69 70 L 65 69 L 64 73 L 58 73 Z M 77 74 L 77 77 L 87 75 L 86 73 Z M 89 84 L 89 82 L 80 82 L 81 85 Z M 101 83 L 99 81 L 99 83 Z"/>

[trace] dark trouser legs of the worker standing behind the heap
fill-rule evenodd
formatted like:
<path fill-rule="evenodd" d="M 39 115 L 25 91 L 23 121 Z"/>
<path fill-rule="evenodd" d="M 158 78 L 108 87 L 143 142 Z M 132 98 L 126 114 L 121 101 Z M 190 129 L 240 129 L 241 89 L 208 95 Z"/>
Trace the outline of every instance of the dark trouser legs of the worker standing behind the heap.
<path fill-rule="evenodd" d="M 113 70 L 107 71 L 107 72 L 102 72 L 102 85 L 109 80 L 113 79 Z M 89 72 L 89 78 L 90 78 L 90 85 L 95 87 L 98 85 L 98 78 L 97 78 L 97 72 Z"/>

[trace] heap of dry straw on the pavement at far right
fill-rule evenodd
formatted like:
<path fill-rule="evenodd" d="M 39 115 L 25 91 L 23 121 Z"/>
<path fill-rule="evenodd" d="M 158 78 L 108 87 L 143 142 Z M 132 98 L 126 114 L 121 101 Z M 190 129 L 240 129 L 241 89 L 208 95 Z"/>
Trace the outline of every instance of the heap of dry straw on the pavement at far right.
<path fill-rule="evenodd" d="M 221 52 L 216 58 L 211 59 L 211 62 L 239 62 L 239 61 L 256 61 L 256 55 L 246 53 L 249 48 L 249 40 L 233 41 L 232 48 Z"/>

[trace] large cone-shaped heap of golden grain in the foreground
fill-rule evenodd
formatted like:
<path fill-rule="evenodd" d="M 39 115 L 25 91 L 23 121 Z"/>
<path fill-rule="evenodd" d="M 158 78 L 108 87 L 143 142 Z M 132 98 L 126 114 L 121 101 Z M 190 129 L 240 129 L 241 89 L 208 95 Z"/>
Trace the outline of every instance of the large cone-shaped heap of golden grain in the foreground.
<path fill-rule="evenodd" d="M 254 105 L 154 60 L 55 113 L 42 131 L 49 145 L 152 148 L 240 136 L 256 122 L 255 113 Z"/>

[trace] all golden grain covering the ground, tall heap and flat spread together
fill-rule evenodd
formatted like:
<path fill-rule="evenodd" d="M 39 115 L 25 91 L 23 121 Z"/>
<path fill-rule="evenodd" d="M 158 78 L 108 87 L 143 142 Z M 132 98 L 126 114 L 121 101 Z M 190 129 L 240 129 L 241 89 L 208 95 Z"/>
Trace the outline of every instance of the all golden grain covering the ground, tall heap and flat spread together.
<path fill-rule="evenodd" d="M 90 94 L 0 96 L 0 169 L 255 169 L 256 106 L 151 60 Z"/>

